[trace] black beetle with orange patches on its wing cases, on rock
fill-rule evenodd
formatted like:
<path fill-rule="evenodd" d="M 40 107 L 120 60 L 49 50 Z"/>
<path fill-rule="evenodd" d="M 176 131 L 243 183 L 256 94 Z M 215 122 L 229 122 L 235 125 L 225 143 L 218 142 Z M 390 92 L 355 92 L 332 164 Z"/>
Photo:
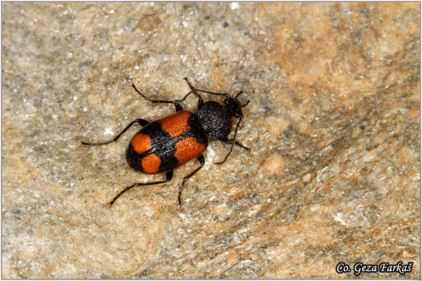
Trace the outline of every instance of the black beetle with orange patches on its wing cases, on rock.
<path fill-rule="evenodd" d="M 234 98 L 229 93 L 215 93 L 211 91 L 199 90 L 192 86 L 188 79 L 184 78 L 190 87 L 191 91 L 186 93 L 181 100 L 153 100 L 148 96 L 143 95 L 136 86 L 132 83 L 132 87 L 142 98 L 151 103 L 172 103 L 176 107 L 176 113 L 159 119 L 155 122 L 148 122 L 145 119 L 135 119 L 127 125 L 113 140 L 103 143 L 87 143 L 81 141 L 81 145 L 107 145 L 117 141 L 132 125 L 139 124 L 143 128 L 136 133 L 136 135 L 129 142 L 126 150 L 126 160 L 129 166 L 135 171 L 144 174 L 161 174 L 165 173 L 165 180 L 154 181 L 147 183 L 134 183 L 128 186 L 120 193 L 118 193 L 113 200 L 108 203 L 110 207 L 124 192 L 127 192 L 135 186 L 157 185 L 160 183 L 167 183 L 172 179 L 173 170 L 178 166 L 190 161 L 191 159 L 198 159 L 200 166 L 193 170 L 191 174 L 184 177 L 179 188 L 179 206 L 181 205 L 181 192 L 184 188 L 185 182 L 198 172 L 205 164 L 203 152 L 207 148 L 208 138 L 217 139 L 223 143 L 230 144 L 230 150 L 226 157 L 221 162 L 215 164 L 223 164 L 233 151 L 234 145 L 248 150 L 238 141 L 236 141 L 236 134 L 238 127 L 243 119 L 242 107 L 245 107 L 250 102 L 241 104 L 238 96 L 243 91 L 240 91 Z M 216 101 L 204 102 L 199 93 L 207 93 L 215 96 L 224 97 L 224 105 Z M 184 101 L 189 95 L 194 94 L 198 98 L 198 112 L 189 112 L 183 110 L 179 103 Z M 235 117 L 238 119 L 234 136 L 229 140 L 227 136 L 231 132 L 231 119 Z"/>

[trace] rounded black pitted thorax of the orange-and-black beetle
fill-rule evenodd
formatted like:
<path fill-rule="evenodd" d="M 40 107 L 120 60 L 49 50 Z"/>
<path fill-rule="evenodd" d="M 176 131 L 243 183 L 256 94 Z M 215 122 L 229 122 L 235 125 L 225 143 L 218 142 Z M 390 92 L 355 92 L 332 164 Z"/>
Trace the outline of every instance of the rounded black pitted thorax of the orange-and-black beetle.
<path fill-rule="evenodd" d="M 207 101 L 200 107 L 198 120 L 209 138 L 226 138 L 231 131 L 231 112 L 215 101 Z"/>

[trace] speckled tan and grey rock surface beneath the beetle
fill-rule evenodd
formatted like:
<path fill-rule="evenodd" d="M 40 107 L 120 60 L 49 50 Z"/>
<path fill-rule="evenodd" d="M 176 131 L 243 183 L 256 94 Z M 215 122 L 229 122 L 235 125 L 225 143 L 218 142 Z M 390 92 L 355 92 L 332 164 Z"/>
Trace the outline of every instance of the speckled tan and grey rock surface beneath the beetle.
<path fill-rule="evenodd" d="M 3 278 L 420 278 L 418 3 L 2 3 Z M 127 166 L 134 93 L 246 91 L 203 170 Z M 245 98 L 245 97 L 244 97 Z M 189 98 L 184 106 L 194 109 Z M 410 273 L 338 263 L 414 263 Z"/>

